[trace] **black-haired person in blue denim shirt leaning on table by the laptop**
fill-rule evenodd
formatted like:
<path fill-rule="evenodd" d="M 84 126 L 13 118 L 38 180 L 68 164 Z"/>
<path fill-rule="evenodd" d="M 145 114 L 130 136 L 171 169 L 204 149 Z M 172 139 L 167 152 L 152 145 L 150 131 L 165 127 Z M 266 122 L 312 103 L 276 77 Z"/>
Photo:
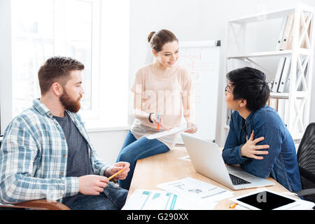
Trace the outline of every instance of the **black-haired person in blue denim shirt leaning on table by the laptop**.
<path fill-rule="evenodd" d="M 223 149 L 223 160 L 246 172 L 274 180 L 290 191 L 301 190 L 293 139 L 279 114 L 266 105 L 265 73 L 244 67 L 227 75 L 225 101 L 235 110 Z"/>

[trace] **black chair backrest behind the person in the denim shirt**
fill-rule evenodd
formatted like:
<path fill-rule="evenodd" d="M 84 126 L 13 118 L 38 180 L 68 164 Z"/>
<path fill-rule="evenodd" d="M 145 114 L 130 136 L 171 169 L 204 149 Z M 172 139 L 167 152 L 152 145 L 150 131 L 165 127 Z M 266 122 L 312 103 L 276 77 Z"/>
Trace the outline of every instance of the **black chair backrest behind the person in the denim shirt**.
<path fill-rule="evenodd" d="M 297 149 L 302 189 L 315 188 L 315 123 L 305 130 Z M 315 202 L 315 195 L 304 196 L 305 200 Z"/>

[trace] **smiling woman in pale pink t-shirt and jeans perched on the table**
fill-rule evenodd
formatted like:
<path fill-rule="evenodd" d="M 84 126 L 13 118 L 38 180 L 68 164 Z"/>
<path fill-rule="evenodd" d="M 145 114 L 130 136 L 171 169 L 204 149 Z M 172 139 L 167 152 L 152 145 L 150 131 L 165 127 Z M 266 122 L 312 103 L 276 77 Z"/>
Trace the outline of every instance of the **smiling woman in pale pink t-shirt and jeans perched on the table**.
<path fill-rule="evenodd" d="M 139 68 L 134 76 L 131 91 L 134 93 L 134 123 L 127 134 L 117 162 L 130 162 L 130 172 L 119 185 L 130 188 L 134 167 L 139 159 L 166 153 L 174 148 L 179 134 L 146 139 L 146 136 L 163 129 L 181 126 L 182 108 L 187 127 L 193 127 L 190 107 L 192 80 L 190 72 L 176 64 L 179 59 L 179 41 L 167 29 L 148 36 L 155 61 Z M 158 120 L 160 118 L 160 130 Z M 186 131 L 197 132 L 197 127 Z"/>

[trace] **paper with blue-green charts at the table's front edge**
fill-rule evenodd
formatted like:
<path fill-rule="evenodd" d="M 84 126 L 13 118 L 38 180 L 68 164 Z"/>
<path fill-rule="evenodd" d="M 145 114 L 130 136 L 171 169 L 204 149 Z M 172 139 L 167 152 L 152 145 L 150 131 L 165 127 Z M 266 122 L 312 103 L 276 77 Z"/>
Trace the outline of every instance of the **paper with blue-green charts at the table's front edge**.
<path fill-rule="evenodd" d="M 135 190 L 123 210 L 193 210 L 197 204 L 164 190 Z"/>

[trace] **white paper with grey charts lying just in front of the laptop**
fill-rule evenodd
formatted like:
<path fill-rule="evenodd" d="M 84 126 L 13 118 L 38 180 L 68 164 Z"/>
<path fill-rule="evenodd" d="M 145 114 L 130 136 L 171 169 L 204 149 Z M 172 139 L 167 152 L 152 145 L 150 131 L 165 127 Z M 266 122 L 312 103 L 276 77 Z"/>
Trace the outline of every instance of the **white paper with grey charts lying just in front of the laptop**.
<path fill-rule="evenodd" d="M 190 177 L 178 181 L 160 183 L 157 187 L 202 204 L 218 202 L 233 196 L 230 190 L 225 190 Z"/>

